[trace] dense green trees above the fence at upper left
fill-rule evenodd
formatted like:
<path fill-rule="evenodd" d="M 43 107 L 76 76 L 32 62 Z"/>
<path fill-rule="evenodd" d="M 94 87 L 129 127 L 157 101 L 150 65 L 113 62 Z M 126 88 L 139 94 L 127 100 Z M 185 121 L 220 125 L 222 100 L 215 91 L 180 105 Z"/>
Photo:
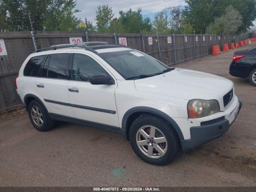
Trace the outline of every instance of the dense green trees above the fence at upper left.
<path fill-rule="evenodd" d="M 74 16 L 79 12 L 75 6 L 74 0 L 1 0 L 0 29 L 30 30 L 31 13 L 34 30 L 77 30 L 80 20 Z"/>

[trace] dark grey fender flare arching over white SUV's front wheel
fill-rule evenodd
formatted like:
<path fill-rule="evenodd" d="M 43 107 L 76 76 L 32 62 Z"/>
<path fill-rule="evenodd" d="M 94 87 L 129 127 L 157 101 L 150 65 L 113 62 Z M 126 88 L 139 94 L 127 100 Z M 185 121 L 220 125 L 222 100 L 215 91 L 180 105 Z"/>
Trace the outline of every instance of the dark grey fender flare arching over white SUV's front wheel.
<path fill-rule="evenodd" d="M 136 112 L 148 112 L 148 113 L 152 113 L 152 114 L 155 114 L 157 116 L 160 116 L 160 117 L 164 118 L 176 130 L 180 140 L 184 140 L 184 136 L 183 136 L 182 131 L 180 130 L 180 127 L 178 126 L 178 124 L 170 116 L 168 116 L 166 113 L 164 113 L 160 110 L 157 110 L 155 108 L 151 108 L 151 107 L 134 107 L 134 108 L 129 109 L 124 114 L 124 116 L 122 118 L 122 129 L 127 131 L 127 128 L 126 128 L 127 120 L 130 117 L 130 115 L 132 115 L 133 113 L 136 113 Z M 127 135 L 127 137 L 128 137 L 128 135 Z"/>

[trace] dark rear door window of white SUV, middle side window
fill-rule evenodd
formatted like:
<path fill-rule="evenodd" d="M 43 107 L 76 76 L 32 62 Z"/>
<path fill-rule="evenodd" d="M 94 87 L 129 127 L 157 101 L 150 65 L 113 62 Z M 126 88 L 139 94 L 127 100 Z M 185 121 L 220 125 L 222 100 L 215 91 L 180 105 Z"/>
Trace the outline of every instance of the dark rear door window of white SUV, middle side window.
<path fill-rule="evenodd" d="M 49 60 L 48 77 L 66 79 L 66 66 L 69 63 L 70 54 L 52 54 Z"/>

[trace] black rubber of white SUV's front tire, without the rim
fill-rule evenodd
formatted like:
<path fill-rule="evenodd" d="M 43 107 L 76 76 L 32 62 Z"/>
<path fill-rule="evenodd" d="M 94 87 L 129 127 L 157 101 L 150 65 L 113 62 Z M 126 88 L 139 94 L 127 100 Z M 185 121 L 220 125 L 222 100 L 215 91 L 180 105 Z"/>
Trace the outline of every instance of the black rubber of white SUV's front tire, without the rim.
<path fill-rule="evenodd" d="M 146 125 L 150 125 L 158 128 L 164 134 L 167 140 L 167 144 L 168 144 L 167 150 L 165 154 L 160 158 L 151 158 L 147 156 L 140 150 L 140 148 L 136 143 L 137 131 L 142 126 L 146 126 Z M 136 120 L 134 120 L 129 130 L 129 140 L 130 140 L 130 145 L 132 146 L 132 149 L 134 150 L 134 152 L 137 154 L 139 158 L 141 158 L 145 162 L 148 162 L 150 164 L 155 164 L 155 165 L 169 164 L 174 160 L 175 156 L 178 154 L 180 150 L 180 140 L 174 128 L 171 126 L 169 122 L 153 114 L 142 114 Z"/>

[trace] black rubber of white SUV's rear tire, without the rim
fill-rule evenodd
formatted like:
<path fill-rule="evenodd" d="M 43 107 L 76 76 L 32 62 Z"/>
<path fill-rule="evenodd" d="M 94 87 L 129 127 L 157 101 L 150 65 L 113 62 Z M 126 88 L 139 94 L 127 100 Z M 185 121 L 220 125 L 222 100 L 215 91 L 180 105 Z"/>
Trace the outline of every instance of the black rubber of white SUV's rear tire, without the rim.
<path fill-rule="evenodd" d="M 34 107 L 34 106 L 38 107 L 40 109 L 41 113 L 42 113 L 43 123 L 42 123 L 41 126 L 37 126 L 37 124 L 32 119 L 32 107 Z M 28 116 L 30 118 L 30 121 L 31 121 L 32 125 L 38 131 L 48 131 L 54 126 L 54 120 L 52 120 L 49 117 L 48 112 L 46 111 L 44 106 L 42 106 L 42 104 L 40 102 L 38 102 L 37 100 L 32 100 L 29 103 L 29 105 L 28 105 Z"/>

